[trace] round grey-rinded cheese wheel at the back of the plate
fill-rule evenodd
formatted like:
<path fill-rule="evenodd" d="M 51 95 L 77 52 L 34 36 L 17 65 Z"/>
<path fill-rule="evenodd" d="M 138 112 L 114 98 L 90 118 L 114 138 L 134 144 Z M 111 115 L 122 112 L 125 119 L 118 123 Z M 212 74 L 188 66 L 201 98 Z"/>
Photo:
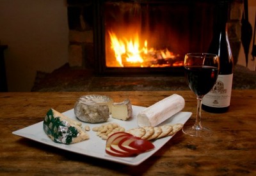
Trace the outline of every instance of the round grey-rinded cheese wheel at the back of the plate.
<path fill-rule="evenodd" d="M 74 107 L 76 117 L 83 122 L 106 122 L 111 114 L 113 99 L 102 95 L 86 95 L 77 99 Z"/>

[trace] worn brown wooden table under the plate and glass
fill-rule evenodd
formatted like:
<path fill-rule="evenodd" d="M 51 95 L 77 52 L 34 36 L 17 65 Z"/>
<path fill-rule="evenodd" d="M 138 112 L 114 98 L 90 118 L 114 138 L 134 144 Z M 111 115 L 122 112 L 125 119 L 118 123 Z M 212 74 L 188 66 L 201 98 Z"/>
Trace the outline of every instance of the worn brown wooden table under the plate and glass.
<path fill-rule="evenodd" d="M 13 135 L 44 119 L 49 108 L 65 112 L 85 94 L 105 94 L 115 101 L 130 98 L 133 105 L 150 106 L 180 94 L 183 111 L 195 115 L 191 91 L 159 92 L 1 92 L 0 175 L 256 175 L 256 90 L 233 90 L 229 112 L 202 112 L 203 123 L 214 130 L 209 138 L 179 131 L 153 156 L 127 166 L 43 145 Z M 192 125 L 195 117 L 185 124 Z"/>

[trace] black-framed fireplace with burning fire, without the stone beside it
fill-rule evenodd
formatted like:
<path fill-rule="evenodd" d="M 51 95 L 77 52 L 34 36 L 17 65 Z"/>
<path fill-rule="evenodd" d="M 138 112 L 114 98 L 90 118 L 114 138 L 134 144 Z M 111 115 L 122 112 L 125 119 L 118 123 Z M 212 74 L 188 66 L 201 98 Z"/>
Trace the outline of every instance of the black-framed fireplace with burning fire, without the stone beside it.
<path fill-rule="evenodd" d="M 214 3 L 98 1 L 95 6 L 101 17 L 95 26 L 102 41 L 99 73 L 177 73 L 186 52 L 206 51 L 211 41 Z"/>

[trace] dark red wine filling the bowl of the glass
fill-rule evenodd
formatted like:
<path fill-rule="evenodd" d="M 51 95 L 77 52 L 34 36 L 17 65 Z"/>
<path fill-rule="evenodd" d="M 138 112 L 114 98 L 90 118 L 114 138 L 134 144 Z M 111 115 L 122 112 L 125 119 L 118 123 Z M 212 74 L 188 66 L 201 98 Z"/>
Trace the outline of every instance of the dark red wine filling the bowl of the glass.
<path fill-rule="evenodd" d="M 191 91 L 204 96 L 215 84 L 218 68 L 213 66 L 185 66 L 185 77 Z"/>

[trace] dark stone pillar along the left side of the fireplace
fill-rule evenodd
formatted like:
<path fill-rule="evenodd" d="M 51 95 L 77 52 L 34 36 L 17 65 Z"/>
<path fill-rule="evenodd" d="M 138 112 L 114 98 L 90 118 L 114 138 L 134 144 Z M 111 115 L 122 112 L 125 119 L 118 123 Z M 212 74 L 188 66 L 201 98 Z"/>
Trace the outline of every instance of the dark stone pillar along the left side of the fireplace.
<path fill-rule="evenodd" d="M 68 0 L 69 46 L 71 67 L 92 68 L 93 61 L 93 2 Z"/>

